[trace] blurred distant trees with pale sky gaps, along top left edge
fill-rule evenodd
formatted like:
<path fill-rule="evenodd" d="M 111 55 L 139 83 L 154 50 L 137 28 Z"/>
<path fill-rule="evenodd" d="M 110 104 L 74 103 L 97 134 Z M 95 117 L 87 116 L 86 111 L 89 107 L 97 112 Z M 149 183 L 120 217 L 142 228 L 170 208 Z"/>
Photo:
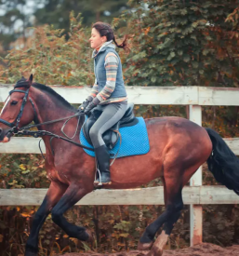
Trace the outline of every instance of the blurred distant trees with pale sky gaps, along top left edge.
<path fill-rule="evenodd" d="M 97 20 L 111 21 L 127 8 L 127 0 L 15 0 L 0 1 L 0 42 L 3 50 L 22 37 L 23 41 L 31 34 L 26 33 L 30 26 L 53 25 L 64 29 L 68 36 L 69 14 L 82 13 L 83 24 L 90 26 Z M 24 47 L 23 44 L 22 47 Z"/>

